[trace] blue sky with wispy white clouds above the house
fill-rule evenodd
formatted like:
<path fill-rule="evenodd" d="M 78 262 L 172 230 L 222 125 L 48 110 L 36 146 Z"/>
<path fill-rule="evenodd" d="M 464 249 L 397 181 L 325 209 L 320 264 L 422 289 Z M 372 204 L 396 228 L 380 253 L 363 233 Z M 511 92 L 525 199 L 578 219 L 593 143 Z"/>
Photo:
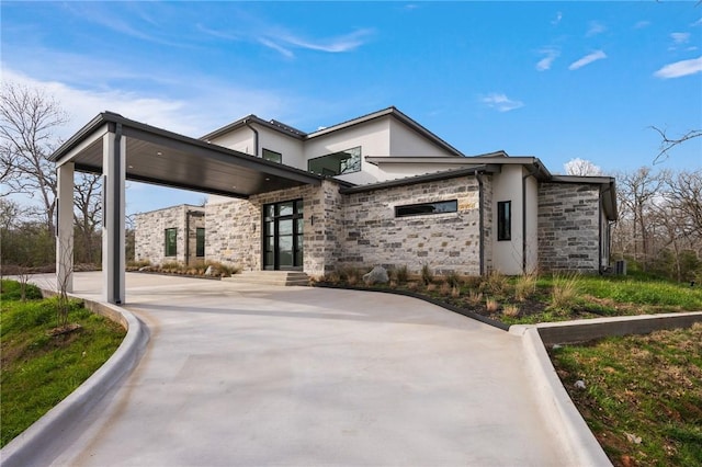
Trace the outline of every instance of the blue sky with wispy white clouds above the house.
<path fill-rule="evenodd" d="M 199 137 L 244 115 L 303 130 L 395 105 L 466 155 L 652 166 L 702 127 L 697 2 L 11 2 L 2 79 L 70 123 L 104 110 Z M 702 138 L 656 167 L 702 167 Z M 127 210 L 203 200 L 131 184 Z"/>

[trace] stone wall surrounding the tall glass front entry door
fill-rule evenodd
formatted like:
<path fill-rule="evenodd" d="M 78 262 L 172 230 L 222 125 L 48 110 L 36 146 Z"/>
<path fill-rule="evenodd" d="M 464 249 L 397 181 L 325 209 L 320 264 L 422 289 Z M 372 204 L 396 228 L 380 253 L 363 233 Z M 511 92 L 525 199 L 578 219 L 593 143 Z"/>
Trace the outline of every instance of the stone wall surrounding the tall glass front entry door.
<path fill-rule="evenodd" d="M 303 200 L 303 270 L 324 275 L 336 267 L 341 248 L 341 195 L 336 182 L 299 186 L 206 206 L 206 258 L 245 271 L 260 271 L 263 205 Z"/>

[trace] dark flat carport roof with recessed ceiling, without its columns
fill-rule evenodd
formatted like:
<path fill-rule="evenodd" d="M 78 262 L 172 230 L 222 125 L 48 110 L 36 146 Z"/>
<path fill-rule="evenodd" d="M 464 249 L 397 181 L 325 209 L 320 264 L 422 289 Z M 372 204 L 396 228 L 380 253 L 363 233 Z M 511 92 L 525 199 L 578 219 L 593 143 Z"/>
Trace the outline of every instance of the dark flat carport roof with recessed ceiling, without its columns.
<path fill-rule="evenodd" d="M 122 132 L 126 179 L 231 197 L 319 185 L 322 176 L 103 112 L 54 152 L 58 166 L 102 173 L 103 138 Z"/>

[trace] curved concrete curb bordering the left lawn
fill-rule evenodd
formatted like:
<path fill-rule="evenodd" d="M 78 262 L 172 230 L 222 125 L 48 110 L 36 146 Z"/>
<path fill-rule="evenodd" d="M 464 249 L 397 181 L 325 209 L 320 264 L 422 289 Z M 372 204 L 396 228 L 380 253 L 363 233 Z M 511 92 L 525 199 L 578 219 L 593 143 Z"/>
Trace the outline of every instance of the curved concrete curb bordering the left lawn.
<path fill-rule="evenodd" d="M 56 294 L 42 292 L 46 295 Z M 132 372 L 149 341 L 146 326 L 124 308 L 73 295 L 71 298 L 82 300 L 86 308 L 118 322 L 127 333 L 115 353 L 92 376 L 0 451 L 3 467 L 32 466 L 37 463 L 37 457 L 42 457 L 37 453 L 52 452 L 52 446 L 63 434 L 78 425 L 83 415 Z"/>

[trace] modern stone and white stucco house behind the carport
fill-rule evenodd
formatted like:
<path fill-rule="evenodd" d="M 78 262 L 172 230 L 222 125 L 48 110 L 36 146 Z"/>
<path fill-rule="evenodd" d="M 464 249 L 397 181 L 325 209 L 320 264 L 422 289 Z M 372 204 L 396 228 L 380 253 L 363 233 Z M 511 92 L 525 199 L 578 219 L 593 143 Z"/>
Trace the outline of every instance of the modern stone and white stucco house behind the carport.
<path fill-rule="evenodd" d="M 138 215 L 137 260 L 316 276 L 342 265 L 478 275 L 610 264 L 614 179 L 555 175 L 535 157 L 503 151 L 465 156 L 395 107 L 313 133 L 249 115 L 201 141 L 263 170 L 222 176 L 204 208 Z M 265 189 L 274 167 L 313 178 Z M 238 198 L 222 189 L 251 183 Z"/>

